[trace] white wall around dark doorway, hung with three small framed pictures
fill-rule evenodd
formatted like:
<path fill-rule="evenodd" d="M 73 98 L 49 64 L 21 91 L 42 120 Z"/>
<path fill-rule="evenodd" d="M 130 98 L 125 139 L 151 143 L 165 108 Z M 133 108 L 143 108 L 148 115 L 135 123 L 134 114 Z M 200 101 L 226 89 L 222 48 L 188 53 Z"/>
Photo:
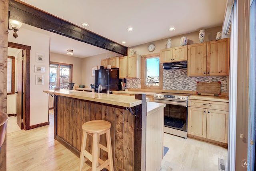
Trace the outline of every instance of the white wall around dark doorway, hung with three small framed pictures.
<path fill-rule="evenodd" d="M 12 36 L 12 31 L 8 35 L 8 42 L 14 42 L 26 46 L 31 46 L 30 50 L 30 126 L 48 122 L 48 95 L 43 90 L 48 90 L 49 86 L 49 47 L 50 37 L 44 34 L 32 32 L 24 28 L 18 31 L 18 38 Z M 36 52 L 44 54 L 44 63 L 36 62 Z M 36 85 L 35 65 L 42 65 L 46 68 L 44 75 L 44 85 Z M 38 74 L 39 75 L 39 74 Z"/>

